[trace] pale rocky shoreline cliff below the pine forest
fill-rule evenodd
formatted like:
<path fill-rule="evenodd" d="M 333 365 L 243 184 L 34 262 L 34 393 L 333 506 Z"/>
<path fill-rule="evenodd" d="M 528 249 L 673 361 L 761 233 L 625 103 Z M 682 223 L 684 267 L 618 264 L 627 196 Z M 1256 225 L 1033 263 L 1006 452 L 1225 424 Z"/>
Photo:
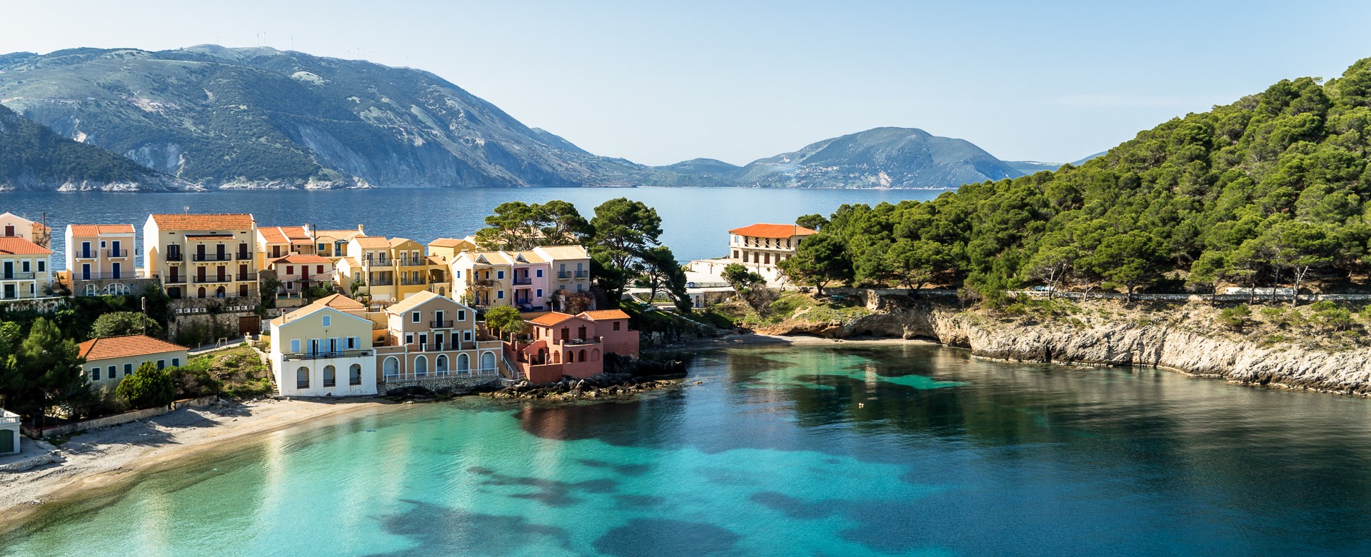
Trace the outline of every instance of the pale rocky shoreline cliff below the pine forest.
<path fill-rule="evenodd" d="M 954 303 L 868 294 L 871 316 L 850 322 L 788 322 L 786 331 L 827 337 L 930 339 L 1005 361 L 1076 365 L 1143 365 L 1243 384 L 1371 395 L 1371 350 L 1311 350 L 1260 346 L 1165 322 L 1005 322 Z M 1180 310 L 1176 310 L 1180 311 Z"/>

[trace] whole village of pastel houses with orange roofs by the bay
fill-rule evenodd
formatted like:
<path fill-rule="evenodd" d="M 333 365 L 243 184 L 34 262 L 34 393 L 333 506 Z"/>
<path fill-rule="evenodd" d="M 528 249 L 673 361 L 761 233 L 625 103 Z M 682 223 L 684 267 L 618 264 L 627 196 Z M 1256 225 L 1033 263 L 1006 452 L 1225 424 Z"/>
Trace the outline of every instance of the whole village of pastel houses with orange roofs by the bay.
<path fill-rule="evenodd" d="M 0 230 L 0 306 L 7 311 L 41 314 L 63 299 L 130 296 L 147 314 L 148 296 L 165 298 L 160 335 L 143 325 L 78 344 L 86 388 L 95 392 L 115 392 L 143 366 L 177 369 L 230 346 L 259 353 L 270 369 L 269 394 L 321 399 L 587 379 L 605 373 L 609 358 L 640 355 L 631 316 L 598 307 L 591 255 L 579 244 L 484 250 L 476 236 L 421 244 L 372 236 L 362 225 L 151 214 L 141 232 L 133 224 L 67 225 L 58 255 L 53 230 L 41 221 L 4 213 Z M 732 294 L 721 278 L 728 263 L 783 285 L 776 265 L 812 233 L 769 224 L 729 230 L 728 255 L 681 268 L 691 303 Z M 56 257 L 62 269 L 53 266 Z M 675 310 L 642 291 L 629 288 L 621 302 Z M 505 322 L 494 322 L 496 314 Z M 0 416 L 0 454 L 19 450 L 22 427 L 18 414 Z"/>

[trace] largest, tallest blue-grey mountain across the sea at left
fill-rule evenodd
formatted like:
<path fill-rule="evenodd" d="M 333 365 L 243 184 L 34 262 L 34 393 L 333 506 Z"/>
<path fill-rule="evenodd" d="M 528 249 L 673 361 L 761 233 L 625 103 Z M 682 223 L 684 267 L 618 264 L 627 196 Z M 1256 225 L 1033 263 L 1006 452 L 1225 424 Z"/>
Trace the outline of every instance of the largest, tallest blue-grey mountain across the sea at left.
<path fill-rule="evenodd" d="M 0 99 L 67 137 L 195 182 L 605 185 L 580 151 L 426 71 L 214 45 L 0 58 Z"/>

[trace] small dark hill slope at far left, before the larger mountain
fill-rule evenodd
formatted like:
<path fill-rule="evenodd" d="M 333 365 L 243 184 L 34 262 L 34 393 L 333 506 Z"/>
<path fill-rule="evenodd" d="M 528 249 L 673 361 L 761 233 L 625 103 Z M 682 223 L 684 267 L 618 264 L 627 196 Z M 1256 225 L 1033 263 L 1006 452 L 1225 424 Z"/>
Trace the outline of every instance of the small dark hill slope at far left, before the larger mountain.
<path fill-rule="evenodd" d="M 192 184 L 81 144 L 0 106 L 0 191 L 185 191 Z"/>

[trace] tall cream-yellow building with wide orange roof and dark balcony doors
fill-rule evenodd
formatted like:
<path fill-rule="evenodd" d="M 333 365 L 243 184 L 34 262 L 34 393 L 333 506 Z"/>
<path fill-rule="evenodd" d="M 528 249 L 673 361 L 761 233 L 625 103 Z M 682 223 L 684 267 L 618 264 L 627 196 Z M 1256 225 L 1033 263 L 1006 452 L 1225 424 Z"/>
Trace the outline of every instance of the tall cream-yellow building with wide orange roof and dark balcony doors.
<path fill-rule="evenodd" d="M 154 214 L 143 225 L 144 272 L 167 296 L 255 298 L 256 221 L 251 214 Z"/>

